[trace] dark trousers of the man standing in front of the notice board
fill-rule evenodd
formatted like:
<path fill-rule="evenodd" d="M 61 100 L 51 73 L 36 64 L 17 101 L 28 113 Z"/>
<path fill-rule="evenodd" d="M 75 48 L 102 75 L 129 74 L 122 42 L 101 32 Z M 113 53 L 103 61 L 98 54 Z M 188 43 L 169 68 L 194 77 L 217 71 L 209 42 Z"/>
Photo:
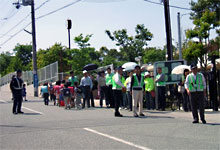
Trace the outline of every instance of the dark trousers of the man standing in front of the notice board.
<path fill-rule="evenodd" d="M 165 86 L 158 86 L 157 93 L 158 93 L 158 106 L 159 109 L 165 110 L 166 108 L 166 87 Z"/>

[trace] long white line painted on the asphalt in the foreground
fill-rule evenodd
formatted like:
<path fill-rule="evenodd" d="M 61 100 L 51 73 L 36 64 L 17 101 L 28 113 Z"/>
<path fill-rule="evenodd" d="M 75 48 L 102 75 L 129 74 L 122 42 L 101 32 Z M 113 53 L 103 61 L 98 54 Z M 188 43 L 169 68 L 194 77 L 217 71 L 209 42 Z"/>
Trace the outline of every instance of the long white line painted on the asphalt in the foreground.
<path fill-rule="evenodd" d="M 136 147 L 136 148 L 139 148 L 139 149 L 142 149 L 142 150 L 151 150 L 150 148 L 147 148 L 147 147 L 144 147 L 144 146 L 140 146 L 140 145 L 134 144 L 132 142 L 128 142 L 128 141 L 125 141 L 123 139 L 119 139 L 117 137 L 114 137 L 114 136 L 111 136 L 111 135 L 108 135 L 108 134 L 104 134 L 104 133 L 95 131 L 93 129 L 84 128 L 84 130 L 92 132 L 92 133 L 95 133 L 95 134 L 98 134 L 98 135 L 101 135 L 101 136 L 104 136 L 104 137 L 107 137 L 109 139 L 112 139 L 112 140 L 115 140 L 115 141 L 118 141 L 118 142 L 121 142 L 121 143 L 124 143 L 124 144 L 127 144 L 127 145 L 130 145 L 130 146 L 133 146 L 133 147 Z"/>

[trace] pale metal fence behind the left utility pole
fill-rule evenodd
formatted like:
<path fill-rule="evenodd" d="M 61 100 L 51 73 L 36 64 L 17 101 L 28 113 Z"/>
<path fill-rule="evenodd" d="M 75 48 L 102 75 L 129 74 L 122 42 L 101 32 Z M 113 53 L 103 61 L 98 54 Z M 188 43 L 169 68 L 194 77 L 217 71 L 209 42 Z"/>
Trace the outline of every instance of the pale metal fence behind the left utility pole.
<path fill-rule="evenodd" d="M 45 82 L 55 82 L 58 80 L 58 62 L 52 63 L 48 66 L 45 66 L 41 69 L 38 69 L 38 82 L 39 84 Z M 16 73 L 10 73 L 0 78 L 0 86 L 10 83 L 11 78 Z M 22 79 L 27 85 L 33 84 L 33 72 L 24 71 L 22 73 Z"/>

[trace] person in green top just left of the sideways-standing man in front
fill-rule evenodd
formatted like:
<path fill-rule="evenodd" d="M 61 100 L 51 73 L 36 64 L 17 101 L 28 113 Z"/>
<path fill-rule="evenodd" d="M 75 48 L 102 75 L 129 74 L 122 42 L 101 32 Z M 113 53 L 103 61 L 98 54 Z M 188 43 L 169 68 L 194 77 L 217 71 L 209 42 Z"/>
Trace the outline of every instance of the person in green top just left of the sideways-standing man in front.
<path fill-rule="evenodd" d="M 113 92 L 112 92 L 112 77 L 113 77 L 113 73 L 111 73 L 111 68 L 108 67 L 107 68 L 107 74 L 105 75 L 105 81 L 106 81 L 106 104 L 107 108 L 114 108 L 115 107 L 115 103 L 114 103 L 114 99 L 113 99 Z"/>

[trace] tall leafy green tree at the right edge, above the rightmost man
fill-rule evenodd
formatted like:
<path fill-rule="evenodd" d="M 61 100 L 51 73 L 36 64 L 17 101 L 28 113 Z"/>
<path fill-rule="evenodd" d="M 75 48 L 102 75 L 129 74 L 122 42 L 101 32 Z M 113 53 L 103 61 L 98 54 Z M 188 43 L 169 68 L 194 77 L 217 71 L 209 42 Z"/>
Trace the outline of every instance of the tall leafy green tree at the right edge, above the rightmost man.
<path fill-rule="evenodd" d="M 183 50 L 184 58 L 188 61 L 197 60 L 203 69 L 207 66 L 208 53 L 215 54 L 211 52 L 210 47 L 213 47 L 210 39 L 211 30 L 215 30 L 217 33 L 216 41 L 219 37 L 219 6 L 220 1 L 216 0 L 198 0 L 197 2 L 191 2 L 191 19 L 195 25 L 193 29 L 188 29 L 186 31 L 186 37 L 188 42 L 186 48 Z M 199 42 L 193 42 L 192 39 L 198 39 Z M 217 51 L 216 48 L 214 51 Z"/>

